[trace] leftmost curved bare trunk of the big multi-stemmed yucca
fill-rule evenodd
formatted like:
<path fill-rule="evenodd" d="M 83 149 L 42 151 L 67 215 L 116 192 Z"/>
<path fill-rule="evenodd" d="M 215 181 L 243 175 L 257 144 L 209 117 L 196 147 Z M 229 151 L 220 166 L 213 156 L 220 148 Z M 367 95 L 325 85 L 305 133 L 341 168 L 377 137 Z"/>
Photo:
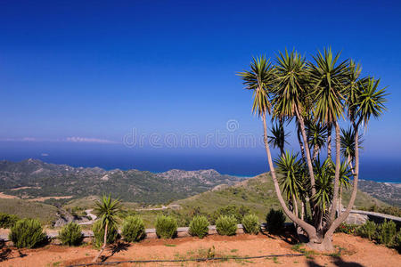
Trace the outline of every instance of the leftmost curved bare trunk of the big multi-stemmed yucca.
<path fill-rule="evenodd" d="M 297 223 L 303 230 L 305 230 L 307 232 L 307 236 L 309 238 L 309 242 L 319 241 L 318 237 L 316 235 L 315 227 L 313 227 L 309 223 L 306 223 L 305 221 L 300 220 L 285 205 L 285 201 L 282 198 L 282 191 L 280 190 L 280 185 L 279 185 L 279 183 L 277 181 L 277 177 L 275 175 L 272 154 L 270 152 L 269 142 L 267 140 L 266 113 L 262 114 L 262 120 L 263 120 L 263 131 L 264 131 L 263 141 L 265 142 L 267 161 L 268 161 L 268 165 L 269 165 L 269 168 L 270 168 L 270 174 L 272 175 L 272 180 L 273 180 L 273 183 L 274 183 L 274 190 L 275 190 L 275 193 L 277 195 L 277 198 L 279 199 L 280 205 L 282 206 L 282 210 L 284 211 L 284 214 L 286 214 L 291 219 L 292 222 Z"/>

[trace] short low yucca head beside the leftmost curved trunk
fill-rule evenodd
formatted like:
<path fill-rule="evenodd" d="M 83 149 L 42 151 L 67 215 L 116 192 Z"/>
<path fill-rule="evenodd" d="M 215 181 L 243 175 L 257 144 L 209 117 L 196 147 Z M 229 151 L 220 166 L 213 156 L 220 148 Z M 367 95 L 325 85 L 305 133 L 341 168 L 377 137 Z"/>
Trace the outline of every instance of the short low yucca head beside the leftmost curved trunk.
<path fill-rule="evenodd" d="M 282 192 L 291 202 L 293 211 L 296 216 L 298 212 L 298 200 L 303 193 L 303 169 L 304 163 L 298 159 L 298 155 L 294 155 L 288 151 L 282 154 L 282 157 L 274 160 L 277 167 L 277 173 L 281 175 L 280 185 Z"/>

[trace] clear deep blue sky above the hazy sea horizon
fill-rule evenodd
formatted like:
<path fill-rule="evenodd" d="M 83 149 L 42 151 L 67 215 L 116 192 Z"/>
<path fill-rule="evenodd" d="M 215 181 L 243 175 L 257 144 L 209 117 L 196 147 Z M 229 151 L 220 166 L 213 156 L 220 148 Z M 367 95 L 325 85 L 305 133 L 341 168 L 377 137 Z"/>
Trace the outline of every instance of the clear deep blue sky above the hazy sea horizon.
<path fill-rule="evenodd" d="M 235 73 L 252 55 L 295 47 L 310 57 L 331 45 L 389 86 L 389 111 L 372 121 L 364 151 L 400 158 L 396 2 L 0 1 L 0 139 L 204 135 L 229 119 L 260 134 Z"/>

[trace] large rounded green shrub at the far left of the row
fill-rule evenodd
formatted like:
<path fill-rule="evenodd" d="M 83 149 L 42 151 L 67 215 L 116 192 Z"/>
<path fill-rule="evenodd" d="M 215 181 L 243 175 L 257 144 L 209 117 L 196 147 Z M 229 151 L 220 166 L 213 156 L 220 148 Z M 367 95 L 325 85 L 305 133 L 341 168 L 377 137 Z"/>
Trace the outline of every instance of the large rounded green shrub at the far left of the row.
<path fill-rule="evenodd" d="M 22 219 L 15 223 L 10 231 L 9 238 L 15 247 L 37 247 L 46 240 L 42 225 L 35 219 Z"/>

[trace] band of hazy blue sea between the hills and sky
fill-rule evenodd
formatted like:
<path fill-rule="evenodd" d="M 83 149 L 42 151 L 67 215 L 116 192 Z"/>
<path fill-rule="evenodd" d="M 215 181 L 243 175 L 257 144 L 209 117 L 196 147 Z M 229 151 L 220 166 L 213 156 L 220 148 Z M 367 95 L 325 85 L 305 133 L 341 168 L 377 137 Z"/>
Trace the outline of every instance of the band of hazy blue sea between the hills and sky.
<path fill-rule="evenodd" d="M 325 152 L 323 152 L 325 153 Z M 254 149 L 135 149 L 123 144 L 82 142 L 0 142 L 0 159 L 37 158 L 47 163 L 104 169 L 139 169 L 154 173 L 170 169 L 216 169 L 221 174 L 254 176 L 267 171 L 266 154 Z M 375 158 L 363 153 L 360 178 L 376 182 L 401 182 L 397 158 Z"/>

